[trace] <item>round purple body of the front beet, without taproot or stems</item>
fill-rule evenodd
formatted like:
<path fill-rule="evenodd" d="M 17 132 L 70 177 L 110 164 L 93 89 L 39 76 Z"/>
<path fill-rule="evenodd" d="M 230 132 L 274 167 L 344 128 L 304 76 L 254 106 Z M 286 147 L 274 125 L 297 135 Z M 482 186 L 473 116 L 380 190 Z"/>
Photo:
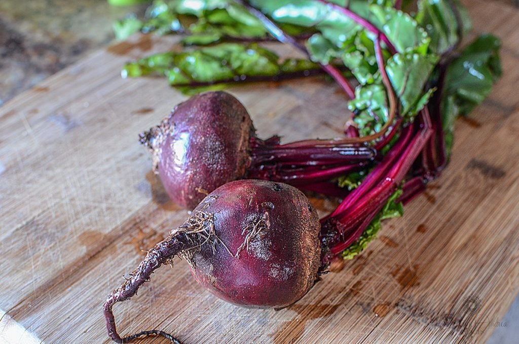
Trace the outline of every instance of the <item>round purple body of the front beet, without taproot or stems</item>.
<path fill-rule="evenodd" d="M 193 216 L 200 214 L 213 218 L 214 237 L 188 262 L 195 279 L 217 297 L 245 307 L 282 308 L 315 283 L 320 223 L 301 191 L 238 180 L 207 196 L 193 210 Z"/>

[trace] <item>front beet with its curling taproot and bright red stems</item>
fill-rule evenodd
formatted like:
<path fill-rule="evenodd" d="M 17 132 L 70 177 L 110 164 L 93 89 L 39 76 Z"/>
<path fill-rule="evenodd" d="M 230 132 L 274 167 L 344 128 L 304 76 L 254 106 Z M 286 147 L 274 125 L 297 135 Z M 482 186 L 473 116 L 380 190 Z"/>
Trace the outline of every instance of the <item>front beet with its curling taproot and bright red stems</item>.
<path fill-rule="evenodd" d="M 119 343 L 147 335 L 178 342 L 160 330 L 121 338 L 112 311 L 175 256 L 187 260 L 200 284 L 236 305 L 282 308 L 302 298 L 330 262 L 360 238 L 412 170 L 432 135 L 428 111 L 419 118 L 361 185 L 321 220 L 306 196 L 288 184 L 246 179 L 217 188 L 107 297 L 108 336 Z"/>

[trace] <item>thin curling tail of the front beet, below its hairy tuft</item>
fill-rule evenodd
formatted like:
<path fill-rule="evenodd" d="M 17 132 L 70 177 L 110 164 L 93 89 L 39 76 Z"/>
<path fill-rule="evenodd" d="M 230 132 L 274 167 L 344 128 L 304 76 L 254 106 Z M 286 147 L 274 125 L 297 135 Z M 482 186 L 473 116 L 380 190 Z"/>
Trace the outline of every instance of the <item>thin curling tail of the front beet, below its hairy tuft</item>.
<path fill-rule="evenodd" d="M 143 331 L 121 338 L 117 333 L 112 307 L 115 303 L 128 300 L 134 296 L 139 287 L 149 281 L 151 274 L 163 263 L 169 261 L 182 250 L 192 247 L 193 242 L 190 241 L 188 236 L 184 233 L 175 234 L 174 236 L 170 236 L 168 239 L 161 241 L 155 245 L 154 248 L 148 251 L 144 260 L 139 264 L 139 267 L 130 274 L 130 278 L 106 298 L 106 302 L 103 306 L 103 313 L 106 321 L 106 329 L 108 330 L 108 336 L 113 341 L 117 343 L 127 343 L 142 336 L 159 335 L 174 343 L 180 344 L 180 342 L 173 336 L 159 330 Z"/>

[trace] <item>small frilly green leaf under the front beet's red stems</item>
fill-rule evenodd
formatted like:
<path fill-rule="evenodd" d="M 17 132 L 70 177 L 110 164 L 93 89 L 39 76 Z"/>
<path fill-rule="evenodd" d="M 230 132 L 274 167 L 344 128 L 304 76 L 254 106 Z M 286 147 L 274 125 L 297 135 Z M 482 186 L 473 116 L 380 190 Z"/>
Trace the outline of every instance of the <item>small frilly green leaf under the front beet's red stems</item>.
<path fill-rule="evenodd" d="M 378 213 L 369 226 L 367 226 L 359 240 L 351 244 L 342 252 L 344 259 L 353 259 L 366 248 L 368 243 L 376 239 L 378 231 L 382 228 L 382 220 L 401 217 L 404 214 L 402 203 L 397 202 L 397 199 L 401 194 L 402 190 L 398 190 L 391 195 L 384 208 L 380 210 L 380 213 Z"/>

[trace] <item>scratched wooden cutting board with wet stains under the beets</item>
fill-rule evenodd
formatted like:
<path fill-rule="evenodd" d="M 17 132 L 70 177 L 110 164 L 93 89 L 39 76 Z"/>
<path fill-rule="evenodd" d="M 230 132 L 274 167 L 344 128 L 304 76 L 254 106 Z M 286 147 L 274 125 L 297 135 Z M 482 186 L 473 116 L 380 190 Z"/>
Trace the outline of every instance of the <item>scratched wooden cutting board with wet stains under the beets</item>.
<path fill-rule="evenodd" d="M 215 298 L 178 259 L 115 306 L 120 332 L 159 328 L 185 343 L 482 342 L 502 326 L 519 286 L 519 11 L 468 6 L 477 32 L 503 39 L 504 75 L 458 121 L 450 165 L 403 218 L 280 311 Z M 134 37 L 0 108 L 0 342 L 107 342 L 105 296 L 187 217 L 137 140 L 185 97 L 163 79 L 119 75 L 173 43 Z M 333 137 L 347 116 L 345 97 L 319 78 L 230 91 L 260 137 Z M 335 205 L 312 201 L 321 214 Z"/>

